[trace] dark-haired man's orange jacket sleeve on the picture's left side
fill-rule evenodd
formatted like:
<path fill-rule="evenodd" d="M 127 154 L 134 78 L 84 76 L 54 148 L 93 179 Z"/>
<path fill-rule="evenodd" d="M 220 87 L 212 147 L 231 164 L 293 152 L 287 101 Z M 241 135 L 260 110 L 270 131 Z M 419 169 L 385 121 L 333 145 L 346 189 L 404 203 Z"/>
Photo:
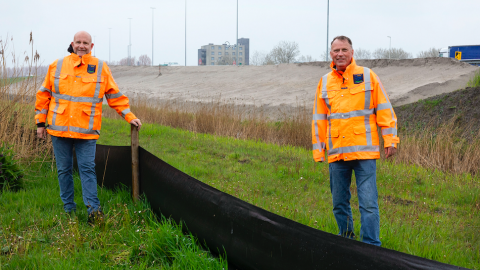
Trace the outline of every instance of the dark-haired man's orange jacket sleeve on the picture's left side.
<path fill-rule="evenodd" d="M 325 161 L 326 148 L 326 134 L 327 134 L 327 105 L 322 98 L 322 80 L 317 86 L 315 93 L 315 101 L 313 104 L 312 117 L 312 144 L 313 144 L 313 159 L 318 161 Z"/>

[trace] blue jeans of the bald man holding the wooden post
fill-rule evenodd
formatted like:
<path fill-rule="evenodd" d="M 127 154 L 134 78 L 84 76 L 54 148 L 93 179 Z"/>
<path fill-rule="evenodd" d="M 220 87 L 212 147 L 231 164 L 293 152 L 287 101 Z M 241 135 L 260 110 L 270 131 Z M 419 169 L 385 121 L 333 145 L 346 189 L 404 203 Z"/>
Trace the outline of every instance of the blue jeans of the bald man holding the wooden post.
<path fill-rule="evenodd" d="M 88 214 L 100 210 L 100 200 L 97 196 L 97 175 L 95 173 L 95 151 L 97 140 L 82 140 L 63 137 L 52 137 L 53 151 L 57 162 L 60 198 L 65 212 L 75 211 L 73 191 L 73 147 L 77 154 L 78 170 L 82 183 L 83 202 Z"/>

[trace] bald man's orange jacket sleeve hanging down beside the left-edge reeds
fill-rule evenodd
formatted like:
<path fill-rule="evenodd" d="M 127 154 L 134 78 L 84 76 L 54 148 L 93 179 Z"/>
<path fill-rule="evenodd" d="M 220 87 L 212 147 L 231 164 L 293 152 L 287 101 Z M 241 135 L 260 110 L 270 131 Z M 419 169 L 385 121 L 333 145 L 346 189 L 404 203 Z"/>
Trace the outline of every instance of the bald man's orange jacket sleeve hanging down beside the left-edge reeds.
<path fill-rule="evenodd" d="M 58 61 L 58 60 L 57 60 Z M 38 89 L 35 99 L 35 124 L 45 124 L 47 120 L 48 107 L 50 100 L 52 99 L 52 81 L 50 80 L 50 74 L 52 70 L 55 70 L 56 62 L 48 67 L 47 75 L 43 81 L 42 86 Z"/>

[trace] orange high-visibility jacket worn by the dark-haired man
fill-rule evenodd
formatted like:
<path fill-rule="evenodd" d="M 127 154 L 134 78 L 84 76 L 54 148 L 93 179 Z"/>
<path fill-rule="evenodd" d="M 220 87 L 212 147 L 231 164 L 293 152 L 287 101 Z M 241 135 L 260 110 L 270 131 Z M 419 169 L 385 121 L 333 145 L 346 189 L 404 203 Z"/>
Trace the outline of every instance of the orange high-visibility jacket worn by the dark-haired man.
<path fill-rule="evenodd" d="M 341 74 L 332 72 L 318 83 L 313 105 L 312 142 L 315 161 L 378 159 L 377 125 L 384 147 L 397 147 L 397 117 L 378 76 L 355 60 Z"/>

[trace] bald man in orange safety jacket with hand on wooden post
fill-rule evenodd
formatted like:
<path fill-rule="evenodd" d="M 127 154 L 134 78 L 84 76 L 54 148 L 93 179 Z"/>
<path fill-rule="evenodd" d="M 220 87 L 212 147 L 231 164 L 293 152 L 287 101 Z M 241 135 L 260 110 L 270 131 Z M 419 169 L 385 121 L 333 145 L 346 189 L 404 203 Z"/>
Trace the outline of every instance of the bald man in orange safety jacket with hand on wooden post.
<path fill-rule="evenodd" d="M 35 102 L 37 136 L 45 139 L 48 132 L 52 137 L 60 197 L 64 210 L 72 214 L 76 211 L 72 178 L 75 146 L 89 222 L 95 216 L 103 216 L 94 161 L 103 100 L 106 99 L 128 123 L 138 129 L 142 126 L 130 111 L 128 98 L 119 91 L 107 64 L 91 55 L 93 45 L 90 34 L 76 33 L 69 48 L 71 54 L 49 66 Z"/>

